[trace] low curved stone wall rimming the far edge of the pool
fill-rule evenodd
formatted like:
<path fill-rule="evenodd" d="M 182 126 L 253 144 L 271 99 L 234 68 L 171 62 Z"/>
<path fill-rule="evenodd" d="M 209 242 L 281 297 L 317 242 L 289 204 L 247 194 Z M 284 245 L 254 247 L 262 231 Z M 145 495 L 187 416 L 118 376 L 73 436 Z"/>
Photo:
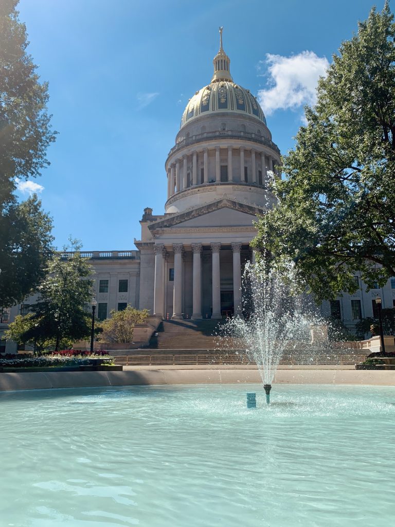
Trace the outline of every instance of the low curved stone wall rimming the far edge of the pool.
<path fill-rule="evenodd" d="M 123 372 L 0 373 L 0 391 L 142 384 L 260 383 L 256 369 L 150 368 Z M 395 372 L 353 369 L 279 369 L 274 383 L 395 386 Z"/>

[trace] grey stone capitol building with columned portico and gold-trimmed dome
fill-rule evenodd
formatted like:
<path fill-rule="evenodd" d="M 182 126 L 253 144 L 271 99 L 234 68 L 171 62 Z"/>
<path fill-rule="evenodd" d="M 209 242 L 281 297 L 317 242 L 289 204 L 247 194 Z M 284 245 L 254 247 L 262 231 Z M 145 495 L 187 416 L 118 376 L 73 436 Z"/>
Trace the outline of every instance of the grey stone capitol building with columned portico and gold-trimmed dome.
<path fill-rule="evenodd" d="M 212 79 L 187 103 L 165 161 L 164 214 L 144 209 L 136 250 L 82 252 L 95 270 L 98 318 L 128 304 L 161 319 L 241 314 L 242 271 L 254 260 L 254 221 L 275 204 L 269 182 L 281 178 L 279 164 L 261 106 L 233 80 L 220 28 Z M 376 315 L 377 294 L 384 308 L 395 306 L 395 279 L 368 291 L 358 275 L 355 279 L 354 295 L 321 306 L 324 316 L 351 328 Z M 4 311 L 0 333 L 35 301 L 31 297 Z"/>

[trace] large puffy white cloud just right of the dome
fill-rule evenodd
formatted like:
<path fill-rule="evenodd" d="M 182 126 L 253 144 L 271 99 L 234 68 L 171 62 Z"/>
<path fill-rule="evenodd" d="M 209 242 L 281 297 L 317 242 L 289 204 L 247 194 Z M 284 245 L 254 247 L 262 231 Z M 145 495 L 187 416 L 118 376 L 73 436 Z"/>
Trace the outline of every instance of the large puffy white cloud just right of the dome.
<path fill-rule="evenodd" d="M 268 89 L 259 90 L 258 101 L 266 115 L 275 110 L 297 109 L 304 104 L 314 104 L 315 87 L 320 76 L 325 76 L 329 62 L 312 51 L 283 57 L 266 55 Z"/>

